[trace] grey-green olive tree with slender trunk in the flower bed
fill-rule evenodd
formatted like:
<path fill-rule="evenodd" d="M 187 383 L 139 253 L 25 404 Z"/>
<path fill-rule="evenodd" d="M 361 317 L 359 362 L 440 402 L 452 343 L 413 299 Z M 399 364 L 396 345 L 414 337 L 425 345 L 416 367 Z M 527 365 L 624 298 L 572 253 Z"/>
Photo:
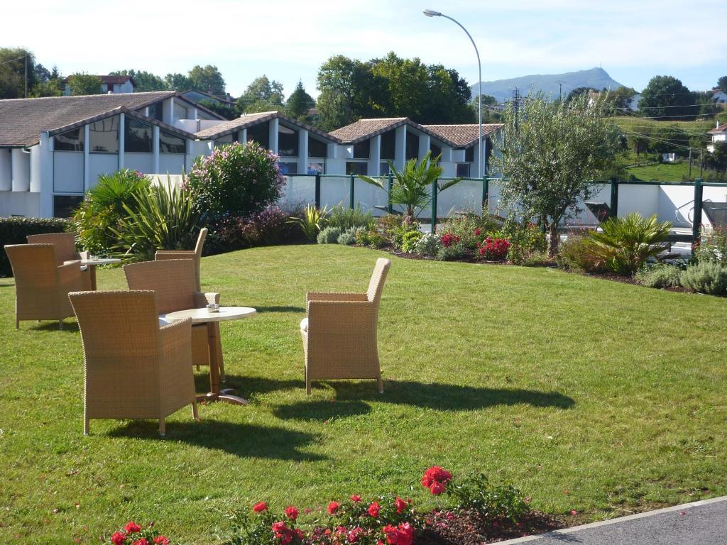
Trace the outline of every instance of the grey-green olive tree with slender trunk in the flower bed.
<path fill-rule="evenodd" d="M 588 94 L 561 102 L 538 93 L 503 115 L 492 159 L 503 177 L 502 201 L 545 227 L 550 256 L 558 252 L 558 224 L 590 198 L 619 150 L 619 132 L 602 107 Z"/>

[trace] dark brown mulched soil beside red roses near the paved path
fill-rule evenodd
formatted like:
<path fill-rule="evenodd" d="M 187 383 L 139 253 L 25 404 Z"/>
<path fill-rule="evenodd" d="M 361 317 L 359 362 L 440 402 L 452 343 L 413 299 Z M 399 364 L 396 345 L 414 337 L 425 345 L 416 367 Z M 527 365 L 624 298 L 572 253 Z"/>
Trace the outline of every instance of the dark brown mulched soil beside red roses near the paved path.
<path fill-rule="evenodd" d="M 431 512 L 430 524 L 417 533 L 416 545 L 482 545 L 569 526 L 564 520 L 537 511 L 514 524 L 509 519 L 484 520 L 477 512 Z"/>

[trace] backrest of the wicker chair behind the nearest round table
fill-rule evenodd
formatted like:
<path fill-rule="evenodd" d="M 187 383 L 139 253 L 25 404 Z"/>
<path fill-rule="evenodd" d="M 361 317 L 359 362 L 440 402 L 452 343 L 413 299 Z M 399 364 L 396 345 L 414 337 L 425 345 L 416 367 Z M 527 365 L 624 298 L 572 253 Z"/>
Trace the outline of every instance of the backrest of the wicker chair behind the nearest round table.
<path fill-rule="evenodd" d="M 160 314 L 194 308 L 197 279 L 192 259 L 164 259 L 124 265 L 129 289 L 156 293 Z"/>

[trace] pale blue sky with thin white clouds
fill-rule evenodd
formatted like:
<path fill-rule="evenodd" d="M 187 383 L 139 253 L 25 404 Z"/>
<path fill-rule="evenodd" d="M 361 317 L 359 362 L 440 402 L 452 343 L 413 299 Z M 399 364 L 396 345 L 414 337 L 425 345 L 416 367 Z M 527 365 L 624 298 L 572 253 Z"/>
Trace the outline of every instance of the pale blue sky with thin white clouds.
<path fill-rule="evenodd" d="M 333 55 L 361 60 L 393 51 L 483 81 L 600 66 L 643 89 L 669 75 L 693 90 L 727 75 L 724 0 L 36 0 L 4 4 L 0 47 L 27 47 L 61 73 L 134 68 L 160 76 L 216 65 L 238 96 L 256 77 L 300 80 Z M 566 92 L 567 89 L 563 89 Z"/>

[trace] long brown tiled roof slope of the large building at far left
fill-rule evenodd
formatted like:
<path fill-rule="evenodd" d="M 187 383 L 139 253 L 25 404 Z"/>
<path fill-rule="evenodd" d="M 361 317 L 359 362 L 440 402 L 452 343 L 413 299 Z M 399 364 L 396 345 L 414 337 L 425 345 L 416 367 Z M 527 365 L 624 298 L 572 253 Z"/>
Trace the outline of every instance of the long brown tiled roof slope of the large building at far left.
<path fill-rule="evenodd" d="M 114 110 L 131 112 L 174 95 L 174 91 L 158 91 L 0 100 L 0 147 L 35 145 L 41 132 L 73 126 L 107 113 L 113 115 Z"/>

